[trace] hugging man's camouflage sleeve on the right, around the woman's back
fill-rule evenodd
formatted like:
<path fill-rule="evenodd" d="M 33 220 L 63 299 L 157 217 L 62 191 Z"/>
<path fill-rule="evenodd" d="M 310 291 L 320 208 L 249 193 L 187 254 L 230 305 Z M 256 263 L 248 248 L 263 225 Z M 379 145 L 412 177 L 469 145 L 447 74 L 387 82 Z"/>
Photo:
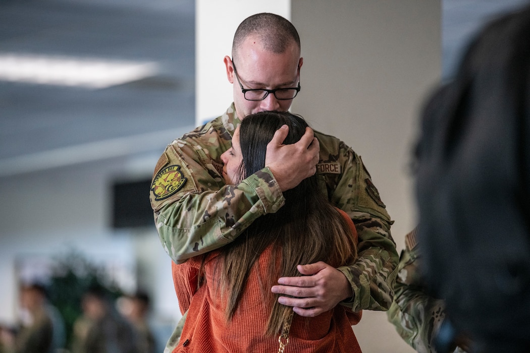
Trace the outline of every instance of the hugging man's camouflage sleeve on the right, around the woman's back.
<path fill-rule="evenodd" d="M 359 238 L 355 264 L 338 268 L 354 293 L 341 304 L 354 311 L 388 310 L 399 261 L 390 233 L 392 221 L 360 156 L 345 146 L 340 156 L 342 176 L 332 182 L 331 201 L 349 214 Z"/>

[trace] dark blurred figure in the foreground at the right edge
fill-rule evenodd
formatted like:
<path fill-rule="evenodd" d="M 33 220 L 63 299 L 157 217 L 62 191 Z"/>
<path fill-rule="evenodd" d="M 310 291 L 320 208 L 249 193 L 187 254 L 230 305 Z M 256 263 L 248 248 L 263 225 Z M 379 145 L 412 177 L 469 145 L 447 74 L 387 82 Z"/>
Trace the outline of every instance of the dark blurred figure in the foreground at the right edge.
<path fill-rule="evenodd" d="M 530 7 L 480 32 L 422 119 L 419 249 L 448 336 L 471 338 L 472 352 L 528 351 Z"/>

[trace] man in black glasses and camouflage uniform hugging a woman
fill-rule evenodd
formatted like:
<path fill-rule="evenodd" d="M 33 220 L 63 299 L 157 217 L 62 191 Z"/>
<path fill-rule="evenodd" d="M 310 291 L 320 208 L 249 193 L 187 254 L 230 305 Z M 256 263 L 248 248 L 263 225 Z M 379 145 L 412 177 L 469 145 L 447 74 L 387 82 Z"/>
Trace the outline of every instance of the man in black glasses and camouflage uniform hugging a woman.
<path fill-rule="evenodd" d="M 224 63 L 234 102 L 223 115 L 174 140 L 155 167 L 150 198 L 167 254 L 182 263 L 226 245 L 259 216 L 276 212 L 284 204 L 282 192 L 316 172 L 329 200 L 354 220 L 359 258 L 338 269 L 304 265 L 305 276 L 279 278 L 271 291 L 285 295 L 278 301 L 303 316 L 339 303 L 354 311 L 387 310 L 398 264 L 392 221 L 350 147 L 311 129 L 298 143 L 284 146 L 287 132 L 279 129 L 267 147 L 265 168 L 238 185 L 225 185 L 222 178 L 220 156 L 231 147 L 237 124 L 250 113 L 287 111 L 301 90 L 296 29 L 275 14 L 252 15 L 238 26 L 232 57 Z M 178 342 L 177 331 L 170 346 Z"/>

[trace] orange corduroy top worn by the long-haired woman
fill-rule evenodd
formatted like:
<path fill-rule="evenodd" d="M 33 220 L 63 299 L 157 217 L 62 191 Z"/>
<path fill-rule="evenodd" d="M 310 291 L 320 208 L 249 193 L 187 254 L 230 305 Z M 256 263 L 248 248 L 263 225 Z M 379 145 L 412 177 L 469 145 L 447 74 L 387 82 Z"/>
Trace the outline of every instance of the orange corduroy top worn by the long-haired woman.
<path fill-rule="evenodd" d="M 342 212 L 343 213 L 343 212 Z M 354 236 L 357 232 L 351 219 Z M 268 270 L 271 247 L 261 254 L 251 269 L 240 304 L 231 321 L 225 318 L 225 300 L 214 295 L 214 270 L 221 263 L 220 251 L 189 259 L 183 264 L 172 264 L 175 292 L 181 313 L 188 311 L 178 346 L 173 352 L 278 352 L 278 336 L 265 336 L 270 307 L 260 287 L 259 273 Z M 205 282 L 197 286 L 198 273 L 204 260 Z M 285 353 L 351 352 L 361 349 L 351 325 L 357 324 L 362 312 L 352 312 L 337 305 L 314 318 L 293 315 L 289 343 Z"/>

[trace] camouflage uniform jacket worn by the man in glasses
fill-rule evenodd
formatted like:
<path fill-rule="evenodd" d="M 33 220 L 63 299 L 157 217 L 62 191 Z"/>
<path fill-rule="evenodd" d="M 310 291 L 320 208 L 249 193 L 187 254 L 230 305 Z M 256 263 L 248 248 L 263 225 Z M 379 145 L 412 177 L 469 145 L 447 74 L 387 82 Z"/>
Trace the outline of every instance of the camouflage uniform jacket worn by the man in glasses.
<path fill-rule="evenodd" d="M 155 167 L 151 205 L 162 245 L 175 263 L 226 245 L 253 220 L 284 204 L 267 167 L 239 185 L 225 185 L 220 156 L 231 147 L 238 123 L 232 104 L 222 116 L 169 144 Z M 350 215 L 359 235 L 358 260 L 339 268 L 354 292 L 342 304 L 354 311 L 387 310 L 398 264 L 390 216 L 360 157 L 337 138 L 315 136 L 323 191 Z"/>

